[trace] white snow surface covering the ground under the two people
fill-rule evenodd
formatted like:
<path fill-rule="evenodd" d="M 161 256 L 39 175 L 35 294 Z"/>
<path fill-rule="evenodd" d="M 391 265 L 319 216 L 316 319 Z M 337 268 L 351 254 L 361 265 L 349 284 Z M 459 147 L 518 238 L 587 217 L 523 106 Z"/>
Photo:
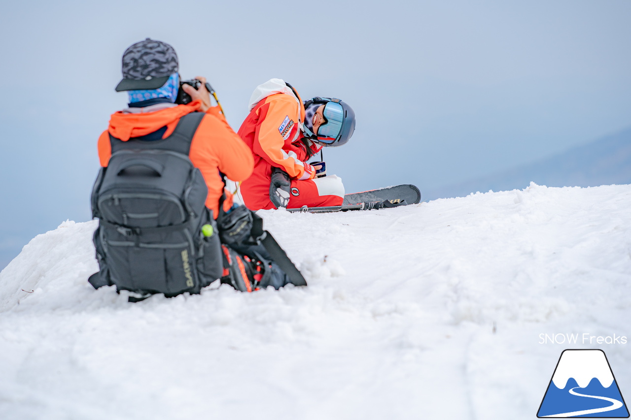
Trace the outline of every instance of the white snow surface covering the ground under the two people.
<path fill-rule="evenodd" d="M 307 288 L 127 303 L 96 221 L 0 273 L 0 419 L 533 419 L 567 344 L 630 336 L 631 185 L 259 211 Z M 627 345 L 603 348 L 631 392 Z M 631 397 L 628 397 L 631 398 Z"/>

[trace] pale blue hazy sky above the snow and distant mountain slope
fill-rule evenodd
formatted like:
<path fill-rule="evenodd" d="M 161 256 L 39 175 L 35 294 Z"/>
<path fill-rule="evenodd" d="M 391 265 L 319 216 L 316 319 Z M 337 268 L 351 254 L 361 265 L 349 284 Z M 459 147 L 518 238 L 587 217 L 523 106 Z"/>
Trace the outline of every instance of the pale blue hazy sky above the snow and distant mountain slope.
<path fill-rule="evenodd" d="M 631 3 L 21 1 L 0 14 L 0 268 L 37 233 L 90 218 L 96 141 L 126 104 L 127 46 L 172 44 L 235 131 L 259 83 L 338 96 L 357 130 L 324 153 L 348 192 L 422 190 L 631 125 Z M 4 255 L 4 257 L 3 257 Z"/>

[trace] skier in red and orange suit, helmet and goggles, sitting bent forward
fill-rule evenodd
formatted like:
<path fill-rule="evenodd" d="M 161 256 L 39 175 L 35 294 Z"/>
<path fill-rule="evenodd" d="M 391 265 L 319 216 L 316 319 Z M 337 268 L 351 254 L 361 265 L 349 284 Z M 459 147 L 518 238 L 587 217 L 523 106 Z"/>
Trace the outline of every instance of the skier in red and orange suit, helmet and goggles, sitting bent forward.
<path fill-rule="evenodd" d="M 257 86 L 239 136 L 254 156 L 254 172 L 240 185 L 252 210 L 339 206 L 344 185 L 326 176 L 324 162 L 307 161 L 323 147 L 346 144 L 355 131 L 355 112 L 336 98 L 304 103 L 282 79 Z"/>

